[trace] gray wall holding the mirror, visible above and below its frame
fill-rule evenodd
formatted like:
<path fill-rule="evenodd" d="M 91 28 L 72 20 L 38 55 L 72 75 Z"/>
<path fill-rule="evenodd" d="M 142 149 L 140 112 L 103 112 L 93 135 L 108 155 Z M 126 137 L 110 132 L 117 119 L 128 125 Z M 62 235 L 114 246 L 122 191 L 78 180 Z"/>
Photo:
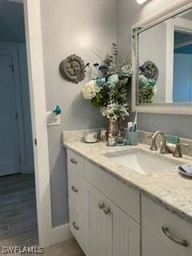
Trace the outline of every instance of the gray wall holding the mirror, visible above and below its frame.
<path fill-rule="evenodd" d="M 175 0 L 155 0 L 138 5 L 135 0 L 117 0 L 117 39 L 121 56 L 130 56 L 130 28 L 135 23 L 165 8 Z M 173 114 L 139 114 L 138 128 L 154 131 L 161 129 L 168 134 L 192 138 L 192 117 Z"/>

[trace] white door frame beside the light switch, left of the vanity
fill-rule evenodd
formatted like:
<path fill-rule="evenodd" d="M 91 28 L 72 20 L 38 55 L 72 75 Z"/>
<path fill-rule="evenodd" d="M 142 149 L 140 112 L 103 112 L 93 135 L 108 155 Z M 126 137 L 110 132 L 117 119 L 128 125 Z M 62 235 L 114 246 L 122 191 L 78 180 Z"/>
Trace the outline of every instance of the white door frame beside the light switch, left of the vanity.
<path fill-rule="evenodd" d="M 49 246 L 53 238 L 50 165 L 46 126 L 46 90 L 43 68 L 40 0 L 7 0 L 24 7 L 26 55 L 30 86 L 30 111 L 34 143 L 34 176 L 38 214 L 38 242 Z"/>

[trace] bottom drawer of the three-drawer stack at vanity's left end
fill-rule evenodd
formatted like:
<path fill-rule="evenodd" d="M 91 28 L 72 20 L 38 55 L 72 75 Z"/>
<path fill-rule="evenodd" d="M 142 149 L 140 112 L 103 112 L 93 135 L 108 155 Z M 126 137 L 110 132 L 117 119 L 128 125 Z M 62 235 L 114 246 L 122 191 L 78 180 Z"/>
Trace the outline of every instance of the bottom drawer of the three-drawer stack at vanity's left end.
<path fill-rule="evenodd" d="M 78 244 L 85 250 L 85 219 L 69 199 L 70 231 Z"/>

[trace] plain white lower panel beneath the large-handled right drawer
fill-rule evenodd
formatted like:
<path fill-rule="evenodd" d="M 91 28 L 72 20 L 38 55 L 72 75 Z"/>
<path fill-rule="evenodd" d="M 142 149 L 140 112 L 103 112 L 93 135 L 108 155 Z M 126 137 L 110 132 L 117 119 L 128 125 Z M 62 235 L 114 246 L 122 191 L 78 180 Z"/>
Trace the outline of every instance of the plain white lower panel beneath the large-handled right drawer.
<path fill-rule="evenodd" d="M 142 228 L 142 256 L 178 256 L 166 244 Z"/>

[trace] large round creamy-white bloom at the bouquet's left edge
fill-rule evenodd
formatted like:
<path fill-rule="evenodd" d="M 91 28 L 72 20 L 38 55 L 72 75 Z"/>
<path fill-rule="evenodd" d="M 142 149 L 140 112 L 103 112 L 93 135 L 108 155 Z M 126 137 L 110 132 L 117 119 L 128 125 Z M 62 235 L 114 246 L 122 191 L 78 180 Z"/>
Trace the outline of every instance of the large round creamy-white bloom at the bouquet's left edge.
<path fill-rule="evenodd" d="M 96 81 L 91 80 L 90 82 L 86 82 L 85 86 L 82 87 L 82 94 L 84 98 L 91 99 L 94 98 L 100 90 L 101 88 L 97 86 Z"/>

